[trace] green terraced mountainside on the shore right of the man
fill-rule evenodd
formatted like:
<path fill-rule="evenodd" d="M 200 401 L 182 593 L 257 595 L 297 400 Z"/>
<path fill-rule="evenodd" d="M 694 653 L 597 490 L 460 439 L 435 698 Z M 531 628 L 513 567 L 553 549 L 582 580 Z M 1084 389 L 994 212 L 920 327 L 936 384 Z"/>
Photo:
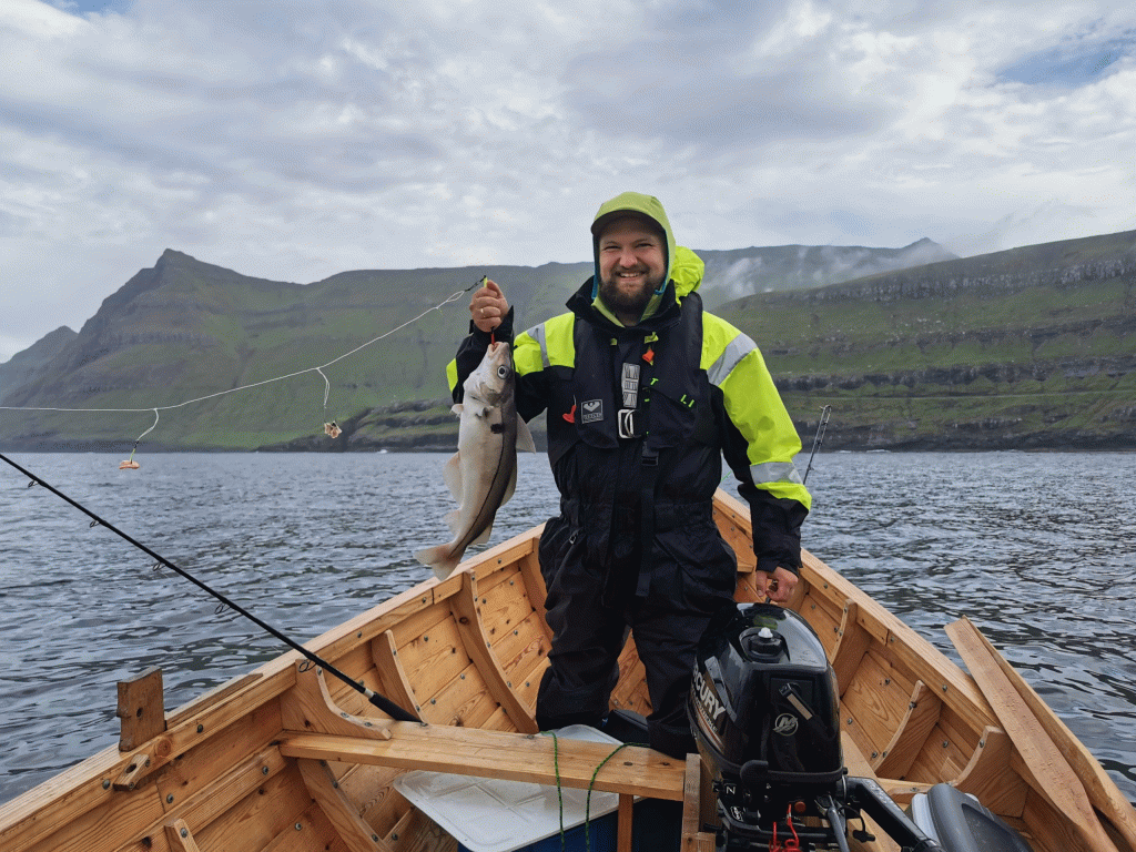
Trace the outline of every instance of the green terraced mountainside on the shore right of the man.
<path fill-rule="evenodd" d="M 1136 231 L 719 309 L 809 448 L 1136 448 Z"/>

